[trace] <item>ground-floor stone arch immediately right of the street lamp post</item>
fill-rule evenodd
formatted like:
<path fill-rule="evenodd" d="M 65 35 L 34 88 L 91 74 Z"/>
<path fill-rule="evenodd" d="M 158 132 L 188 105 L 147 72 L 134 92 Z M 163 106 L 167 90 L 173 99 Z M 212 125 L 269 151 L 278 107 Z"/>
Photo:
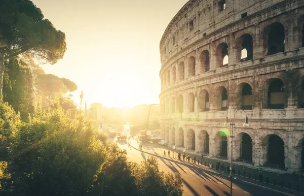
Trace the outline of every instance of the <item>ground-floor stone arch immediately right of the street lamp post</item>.
<path fill-rule="evenodd" d="M 239 133 L 234 142 L 234 158 L 252 161 L 252 137 L 244 132 Z"/>

